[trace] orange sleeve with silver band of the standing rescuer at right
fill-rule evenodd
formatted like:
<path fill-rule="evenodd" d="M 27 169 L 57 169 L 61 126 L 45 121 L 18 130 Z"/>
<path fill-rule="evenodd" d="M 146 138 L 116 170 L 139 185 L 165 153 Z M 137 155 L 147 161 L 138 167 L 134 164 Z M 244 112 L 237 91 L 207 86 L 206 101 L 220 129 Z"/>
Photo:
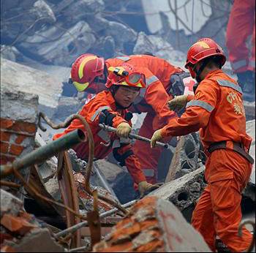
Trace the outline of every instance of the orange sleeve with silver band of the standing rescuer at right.
<path fill-rule="evenodd" d="M 200 128 L 206 127 L 211 113 L 217 106 L 219 86 L 202 81 L 197 87 L 195 98 L 187 103 L 185 113 L 181 118 L 173 118 L 167 126 L 161 129 L 161 136 L 188 135 L 197 132 Z"/>

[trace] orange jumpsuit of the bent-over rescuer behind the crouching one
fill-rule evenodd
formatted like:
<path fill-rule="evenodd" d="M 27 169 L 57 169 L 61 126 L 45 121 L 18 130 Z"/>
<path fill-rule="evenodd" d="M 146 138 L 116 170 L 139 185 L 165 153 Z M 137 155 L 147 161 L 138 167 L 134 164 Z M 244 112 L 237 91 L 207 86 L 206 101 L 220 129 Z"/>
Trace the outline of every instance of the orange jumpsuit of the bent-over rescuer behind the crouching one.
<path fill-rule="evenodd" d="M 169 94 L 171 75 L 183 72 L 162 58 L 148 55 L 119 56 L 105 61 L 107 67 L 125 65 L 135 68 L 146 76 L 146 89 L 140 91 L 140 97 L 135 100 L 129 110 L 134 113 L 147 113 L 138 135 L 151 138 L 155 130 L 165 126 L 176 113 L 166 106 L 167 101 L 173 98 Z M 169 138 L 170 139 L 170 138 Z M 157 164 L 162 152 L 161 147 L 152 150 L 148 143 L 136 140 L 133 151 L 140 160 L 144 174 L 149 183 L 157 183 Z"/>

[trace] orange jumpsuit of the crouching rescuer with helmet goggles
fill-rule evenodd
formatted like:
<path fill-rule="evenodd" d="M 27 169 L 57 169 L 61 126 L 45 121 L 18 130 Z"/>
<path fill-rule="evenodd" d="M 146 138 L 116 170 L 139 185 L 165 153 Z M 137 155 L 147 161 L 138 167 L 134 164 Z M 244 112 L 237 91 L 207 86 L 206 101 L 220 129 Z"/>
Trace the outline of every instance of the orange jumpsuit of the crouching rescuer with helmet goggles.
<path fill-rule="evenodd" d="M 118 155 L 128 155 L 125 159 L 125 165 L 127 170 L 132 176 L 136 184 L 141 181 L 146 181 L 145 175 L 141 170 L 140 162 L 135 154 L 132 154 L 132 146 L 127 143 L 127 139 L 119 138 L 113 132 L 105 132 L 99 127 L 100 113 L 108 110 L 108 113 L 111 113 L 113 117 L 112 126 L 118 127 L 118 124 L 121 122 L 127 122 L 124 118 L 127 114 L 127 110 L 117 109 L 116 102 L 113 99 L 110 91 L 102 91 L 92 98 L 86 105 L 83 106 L 80 110 L 79 115 L 83 116 L 91 127 L 91 132 L 94 136 L 94 157 L 96 159 L 104 159 L 105 156 L 110 154 L 113 148 L 116 148 Z M 131 125 L 131 122 L 129 121 Z M 84 129 L 83 124 L 78 119 L 72 121 L 72 123 L 64 130 L 61 134 L 56 134 L 53 136 L 53 140 L 61 137 L 62 135 L 72 132 L 74 129 Z M 110 142 L 110 146 L 103 146 L 101 143 Z M 80 159 L 87 160 L 89 157 L 89 146 L 88 142 L 79 143 L 75 148 L 73 148 Z M 128 153 L 129 152 L 129 153 Z"/>

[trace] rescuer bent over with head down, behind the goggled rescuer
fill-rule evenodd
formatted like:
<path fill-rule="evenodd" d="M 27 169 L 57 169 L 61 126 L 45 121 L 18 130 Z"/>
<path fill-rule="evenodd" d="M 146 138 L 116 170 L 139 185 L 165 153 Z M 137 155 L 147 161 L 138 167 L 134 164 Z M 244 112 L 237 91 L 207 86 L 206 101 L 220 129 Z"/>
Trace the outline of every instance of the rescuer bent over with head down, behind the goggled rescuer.
<path fill-rule="evenodd" d="M 97 93 L 108 80 L 109 67 L 135 67 L 146 76 L 146 89 L 140 92 L 131 107 L 132 113 L 147 113 L 138 135 L 150 138 L 155 130 L 165 126 L 170 118 L 176 117 L 166 106 L 174 95 L 183 94 L 184 78 L 192 79 L 189 73 L 174 67 L 162 58 L 151 55 L 119 56 L 104 60 L 92 54 L 80 56 L 72 66 L 71 79 L 78 91 Z M 86 75 L 80 78 L 85 69 Z M 170 139 L 170 138 L 169 138 Z M 140 160 L 146 179 L 151 184 L 157 182 L 157 164 L 162 147 L 151 150 L 148 143 L 135 141 L 133 148 Z"/>

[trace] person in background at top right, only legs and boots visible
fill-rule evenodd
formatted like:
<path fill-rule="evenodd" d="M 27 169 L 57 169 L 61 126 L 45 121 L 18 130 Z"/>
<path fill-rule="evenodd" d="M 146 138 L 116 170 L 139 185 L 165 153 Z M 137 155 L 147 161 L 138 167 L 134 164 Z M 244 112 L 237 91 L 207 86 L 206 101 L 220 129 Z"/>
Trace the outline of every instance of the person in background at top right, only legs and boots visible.
<path fill-rule="evenodd" d="M 252 49 L 246 45 L 252 36 Z M 255 101 L 255 0 L 235 0 L 227 23 L 227 50 L 244 99 Z"/>

